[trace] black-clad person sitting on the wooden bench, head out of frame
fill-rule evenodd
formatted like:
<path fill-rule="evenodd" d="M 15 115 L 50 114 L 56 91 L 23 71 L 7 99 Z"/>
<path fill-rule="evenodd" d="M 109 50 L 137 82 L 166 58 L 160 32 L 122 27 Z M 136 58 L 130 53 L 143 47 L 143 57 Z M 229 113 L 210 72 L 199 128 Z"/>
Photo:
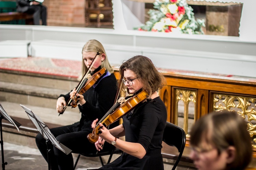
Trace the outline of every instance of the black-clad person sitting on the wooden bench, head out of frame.
<path fill-rule="evenodd" d="M 40 25 L 40 19 L 43 26 L 47 25 L 47 8 L 42 3 L 34 0 L 17 0 L 16 9 L 17 12 L 33 14 L 34 25 Z"/>

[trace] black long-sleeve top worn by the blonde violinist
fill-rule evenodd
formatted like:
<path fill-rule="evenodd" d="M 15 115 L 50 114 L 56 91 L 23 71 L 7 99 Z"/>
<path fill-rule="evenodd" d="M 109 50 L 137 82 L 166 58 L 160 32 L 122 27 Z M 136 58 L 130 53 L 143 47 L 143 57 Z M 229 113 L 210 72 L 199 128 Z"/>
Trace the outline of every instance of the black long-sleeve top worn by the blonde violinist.
<path fill-rule="evenodd" d="M 91 74 L 94 74 L 100 69 L 100 67 L 97 68 Z M 79 111 L 81 112 L 81 119 L 79 122 L 73 124 L 75 132 L 91 128 L 91 123 L 97 118 L 100 120 L 114 104 L 117 92 L 115 75 L 112 73 L 107 77 L 100 78 L 100 81 L 98 81 L 96 82 L 98 84 L 95 88 L 91 87 L 83 94 L 86 103 L 82 106 L 78 105 Z M 68 93 L 59 97 L 64 97 L 67 102 L 70 95 Z"/>

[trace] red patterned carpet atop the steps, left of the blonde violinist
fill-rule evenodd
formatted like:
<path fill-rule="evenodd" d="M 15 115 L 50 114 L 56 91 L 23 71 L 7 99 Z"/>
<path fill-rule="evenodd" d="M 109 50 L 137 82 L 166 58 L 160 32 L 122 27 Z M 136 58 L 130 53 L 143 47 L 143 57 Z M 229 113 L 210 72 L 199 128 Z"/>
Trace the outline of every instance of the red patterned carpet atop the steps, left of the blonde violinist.
<path fill-rule="evenodd" d="M 81 72 L 79 61 L 27 57 L 0 60 L 0 69 L 42 73 L 77 78 Z"/>

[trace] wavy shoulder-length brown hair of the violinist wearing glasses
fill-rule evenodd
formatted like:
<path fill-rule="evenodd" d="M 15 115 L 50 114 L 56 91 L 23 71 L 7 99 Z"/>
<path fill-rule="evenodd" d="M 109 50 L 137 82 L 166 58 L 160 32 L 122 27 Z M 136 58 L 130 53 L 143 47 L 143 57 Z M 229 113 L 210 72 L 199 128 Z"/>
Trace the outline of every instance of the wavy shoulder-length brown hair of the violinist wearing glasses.
<path fill-rule="evenodd" d="M 165 83 L 165 77 L 156 69 L 152 61 L 142 55 L 137 55 L 129 60 L 125 61 L 119 69 L 120 75 L 122 75 L 123 69 L 129 69 L 133 71 L 138 79 L 143 83 L 144 89 L 149 95 L 161 89 Z M 125 85 L 122 86 L 122 94 L 125 92 Z M 121 94 L 121 95 L 122 95 Z"/>

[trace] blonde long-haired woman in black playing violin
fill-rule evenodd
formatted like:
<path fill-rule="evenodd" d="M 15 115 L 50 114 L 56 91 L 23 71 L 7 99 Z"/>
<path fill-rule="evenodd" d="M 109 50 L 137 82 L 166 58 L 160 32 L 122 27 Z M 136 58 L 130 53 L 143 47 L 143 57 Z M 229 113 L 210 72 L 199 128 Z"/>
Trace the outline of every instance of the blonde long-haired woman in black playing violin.
<path fill-rule="evenodd" d="M 102 44 L 95 40 L 88 40 L 82 50 L 82 76 L 80 84 L 66 95 L 60 95 L 57 99 L 56 110 L 62 114 L 67 106 L 78 105 L 81 114 L 79 122 L 71 125 L 61 126 L 50 129 L 57 141 L 72 150 L 72 153 L 96 153 L 97 150 L 93 143 L 89 142 L 86 136 L 93 131 L 91 124 L 96 118 L 101 118 L 112 107 L 115 102 L 117 92 L 117 80 L 114 71 L 109 64 L 108 57 Z M 104 69 L 104 70 L 103 70 Z M 94 82 L 95 75 L 98 75 L 100 70 L 103 74 Z M 83 75 L 90 75 L 85 78 Z M 97 73 L 97 74 L 96 74 Z M 90 81 L 91 80 L 91 81 Z M 90 83 L 88 84 L 88 82 Z M 91 86 L 89 86 L 91 85 Z M 85 88 L 89 86 L 86 90 Z M 76 99 L 76 101 L 75 101 Z M 71 102 L 70 102 L 71 101 Z M 65 116 L 65 112 L 63 113 Z M 71 118 L 72 119 L 72 118 Z M 110 129 L 119 122 L 111 124 Z M 37 146 L 47 161 L 47 145 L 41 134 L 35 138 Z M 51 169 L 63 170 L 73 169 L 72 154 L 66 155 L 58 148 L 51 145 L 52 149 Z M 106 144 L 104 151 L 112 150 L 114 146 Z"/>

